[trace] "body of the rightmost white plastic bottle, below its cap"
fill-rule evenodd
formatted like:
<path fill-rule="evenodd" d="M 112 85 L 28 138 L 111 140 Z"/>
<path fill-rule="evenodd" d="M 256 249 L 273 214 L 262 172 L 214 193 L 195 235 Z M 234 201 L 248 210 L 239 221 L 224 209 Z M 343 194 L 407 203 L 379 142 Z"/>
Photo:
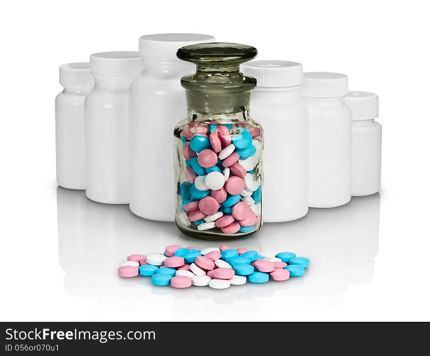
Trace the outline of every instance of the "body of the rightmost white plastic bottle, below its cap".
<path fill-rule="evenodd" d="M 382 126 L 375 120 L 352 123 L 351 195 L 370 195 L 381 187 Z"/>

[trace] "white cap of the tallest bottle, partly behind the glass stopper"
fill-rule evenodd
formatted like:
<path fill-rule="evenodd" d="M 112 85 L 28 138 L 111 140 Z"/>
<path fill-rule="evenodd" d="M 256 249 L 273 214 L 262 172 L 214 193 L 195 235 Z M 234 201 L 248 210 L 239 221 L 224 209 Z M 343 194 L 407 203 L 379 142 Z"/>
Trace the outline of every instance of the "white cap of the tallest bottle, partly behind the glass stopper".
<path fill-rule="evenodd" d="M 176 51 L 190 44 L 215 42 L 215 37 L 194 33 L 160 33 L 139 39 L 139 54 L 144 61 L 181 62 Z"/>

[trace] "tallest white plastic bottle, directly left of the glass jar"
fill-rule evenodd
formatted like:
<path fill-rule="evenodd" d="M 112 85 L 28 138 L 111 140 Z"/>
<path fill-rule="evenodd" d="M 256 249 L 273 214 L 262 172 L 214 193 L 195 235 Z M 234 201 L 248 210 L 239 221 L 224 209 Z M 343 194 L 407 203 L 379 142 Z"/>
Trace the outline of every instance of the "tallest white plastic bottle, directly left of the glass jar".
<path fill-rule="evenodd" d="M 172 133 L 187 116 L 181 77 L 195 66 L 176 58 L 185 45 L 214 42 L 198 34 L 156 34 L 139 39 L 144 71 L 130 86 L 130 209 L 141 217 L 174 221 Z M 161 202 L 161 203 L 159 203 Z"/>

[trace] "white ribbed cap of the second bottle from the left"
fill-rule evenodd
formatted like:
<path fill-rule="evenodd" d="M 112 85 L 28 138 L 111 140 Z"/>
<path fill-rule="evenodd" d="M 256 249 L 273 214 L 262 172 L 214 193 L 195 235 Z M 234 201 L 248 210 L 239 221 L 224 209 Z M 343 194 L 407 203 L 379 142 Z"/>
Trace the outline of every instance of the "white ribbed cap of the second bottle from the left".
<path fill-rule="evenodd" d="M 89 67 L 93 76 L 134 77 L 142 72 L 143 63 L 138 52 L 101 52 L 89 57 Z"/>

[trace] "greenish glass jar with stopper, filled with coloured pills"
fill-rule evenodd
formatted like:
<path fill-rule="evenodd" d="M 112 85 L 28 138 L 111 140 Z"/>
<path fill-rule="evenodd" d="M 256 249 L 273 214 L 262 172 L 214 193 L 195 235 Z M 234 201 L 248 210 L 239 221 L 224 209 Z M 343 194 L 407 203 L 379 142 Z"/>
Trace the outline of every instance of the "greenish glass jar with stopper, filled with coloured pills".
<path fill-rule="evenodd" d="M 175 221 L 186 235 L 239 238 L 261 227 L 263 130 L 249 115 L 256 79 L 239 71 L 257 49 L 236 43 L 182 47 L 188 117 L 173 131 Z"/>

